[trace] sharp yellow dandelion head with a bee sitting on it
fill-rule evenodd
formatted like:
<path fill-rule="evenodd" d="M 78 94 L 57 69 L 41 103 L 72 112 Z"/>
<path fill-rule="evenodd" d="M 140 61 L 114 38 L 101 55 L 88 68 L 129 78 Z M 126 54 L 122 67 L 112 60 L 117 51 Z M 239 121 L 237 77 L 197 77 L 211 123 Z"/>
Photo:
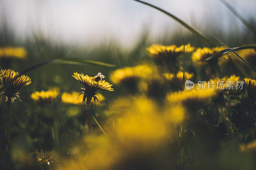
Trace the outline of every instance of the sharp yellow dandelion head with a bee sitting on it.
<path fill-rule="evenodd" d="M 97 97 L 97 94 L 99 93 L 96 93 L 97 90 L 114 91 L 114 89 L 111 87 L 112 85 L 105 80 L 97 81 L 95 80 L 95 77 L 90 77 L 88 75 L 84 76 L 84 73 L 78 74 L 77 72 L 74 73 L 72 77 L 76 78 L 80 83 L 84 85 L 84 89 L 82 88 L 82 90 L 79 91 L 79 95 L 83 94 L 84 96 L 82 102 L 84 102 L 86 98 L 86 103 L 88 102 L 88 104 L 91 102 L 92 98 L 95 102 L 96 100 L 99 101 Z"/>

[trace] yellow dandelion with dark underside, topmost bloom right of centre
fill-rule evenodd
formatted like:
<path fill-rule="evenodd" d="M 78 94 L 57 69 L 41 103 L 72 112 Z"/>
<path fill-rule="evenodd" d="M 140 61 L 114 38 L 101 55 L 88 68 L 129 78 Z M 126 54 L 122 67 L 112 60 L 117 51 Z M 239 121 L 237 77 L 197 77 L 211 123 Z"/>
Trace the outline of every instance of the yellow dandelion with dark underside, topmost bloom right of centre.
<path fill-rule="evenodd" d="M 195 50 L 190 44 L 185 45 L 185 53 L 190 53 Z M 160 44 L 153 44 L 147 48 L 148 55 L 156 61 L 175 61 L 176 57 L 183 54 L 183 45 L 177 47 L 176 45 L 163 46 Z"/>

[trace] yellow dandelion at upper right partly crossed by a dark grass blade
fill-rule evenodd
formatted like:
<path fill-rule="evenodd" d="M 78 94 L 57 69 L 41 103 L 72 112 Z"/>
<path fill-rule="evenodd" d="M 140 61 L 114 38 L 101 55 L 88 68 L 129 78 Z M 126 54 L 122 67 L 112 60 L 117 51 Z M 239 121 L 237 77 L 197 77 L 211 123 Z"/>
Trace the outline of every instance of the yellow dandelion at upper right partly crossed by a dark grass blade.
<path fill-rule="evenodd" d="M 214 48 L 197 48 L 196 51 L 192 54 L 192 61 L 200 66 L 204 66 L 212 61 L 205 61 L 206 58 L 218 53 L 221 50 L 226 49 L 225 47 L 214 47 Z M 222 55 L 219 58 L 219 61 L 228 60 L 228 55 Z M 220 59 L 222 58 L 222 59 Z M 214 59 L 213 59 L 214 60 Z"/>

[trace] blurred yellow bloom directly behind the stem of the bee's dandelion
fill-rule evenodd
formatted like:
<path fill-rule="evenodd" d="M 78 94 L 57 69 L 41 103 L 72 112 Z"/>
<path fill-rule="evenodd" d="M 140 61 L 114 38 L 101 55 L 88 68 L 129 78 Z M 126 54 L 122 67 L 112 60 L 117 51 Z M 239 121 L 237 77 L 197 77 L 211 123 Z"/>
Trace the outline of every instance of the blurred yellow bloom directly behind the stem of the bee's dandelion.
<path fill-rule="evenodd" d="M 98 95 L 98 99 L 99 101 L 104 100 L 104 97 L 102 96 L 102 94 L 97 94 Z M 82 101 L 83 101 L 83 96 L 79 96 L 78 97 L 78 93 L 77 92 L 72 92 L 71 94 L 68 92 L 64 92 L 61 96 L 61 100 L 63 103 L 65 104 L 71 104 L 71 105 L 82 105 Z M 91 102 L 93 103 L 93 99 L 91 100 Z"/>

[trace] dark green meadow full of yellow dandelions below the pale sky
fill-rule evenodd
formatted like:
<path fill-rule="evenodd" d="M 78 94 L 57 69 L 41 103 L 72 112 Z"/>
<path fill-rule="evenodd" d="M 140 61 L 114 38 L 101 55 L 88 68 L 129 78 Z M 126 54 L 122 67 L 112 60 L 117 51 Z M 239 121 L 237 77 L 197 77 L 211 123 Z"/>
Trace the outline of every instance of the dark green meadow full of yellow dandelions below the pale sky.
<path fill-rule="evenodd" d="M 0 169 L 255 169 L 253 23 L 202 30 L 250 46 L 207 61 L 227 47 L 190 28 L 125 48 L 20 40 L 2 23 Z"/>

